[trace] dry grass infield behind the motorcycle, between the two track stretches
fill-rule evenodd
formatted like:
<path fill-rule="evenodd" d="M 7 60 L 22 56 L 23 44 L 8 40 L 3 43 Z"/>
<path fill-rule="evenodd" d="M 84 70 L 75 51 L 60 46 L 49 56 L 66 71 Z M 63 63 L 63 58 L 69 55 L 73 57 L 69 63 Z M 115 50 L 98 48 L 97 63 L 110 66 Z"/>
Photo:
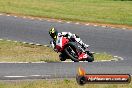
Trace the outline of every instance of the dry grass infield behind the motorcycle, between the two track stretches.
<path fill-rule="evenodd" d="M 59 62 L 59 53 L 52 48 L 15 42 L 0 41 L 0 62 Z M 112 55 L 95 54 L 95 60 L 110 60 Z"/>

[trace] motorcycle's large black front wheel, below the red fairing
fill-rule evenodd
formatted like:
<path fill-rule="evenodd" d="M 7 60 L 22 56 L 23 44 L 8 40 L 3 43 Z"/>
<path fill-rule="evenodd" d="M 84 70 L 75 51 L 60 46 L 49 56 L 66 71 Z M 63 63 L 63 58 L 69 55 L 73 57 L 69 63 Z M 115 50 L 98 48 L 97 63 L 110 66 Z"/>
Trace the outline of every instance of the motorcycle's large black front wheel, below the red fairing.
<path fill-rule="evenodd" d="M 65 47 L 66 54 L 71 58 L 74 62 L 79 62 L 78 59 L 78 47 L 76 43 L 69 42 Z"/>

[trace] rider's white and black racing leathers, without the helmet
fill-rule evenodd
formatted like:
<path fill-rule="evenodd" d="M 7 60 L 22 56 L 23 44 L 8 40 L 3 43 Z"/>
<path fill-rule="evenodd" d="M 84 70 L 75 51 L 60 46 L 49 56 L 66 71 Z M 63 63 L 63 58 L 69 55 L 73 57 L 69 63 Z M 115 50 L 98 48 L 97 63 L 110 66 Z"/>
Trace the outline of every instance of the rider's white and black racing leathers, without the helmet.
<path fill-rule="evenodd" d="M 57 38 L 60 37 L 60 36 L 67 37 L 69 39 L 72 39 L 73 41 L 78 42 L 84 49 L 88 48 L 88 46 L 89 46 L 89 45 L 83 43 L 78 35 L 72 34 L 71 32 L 58 33 Z M 51 43 L 52 48 L 55 50 L 56 40 L 53 40 L 50 43 Z"/>

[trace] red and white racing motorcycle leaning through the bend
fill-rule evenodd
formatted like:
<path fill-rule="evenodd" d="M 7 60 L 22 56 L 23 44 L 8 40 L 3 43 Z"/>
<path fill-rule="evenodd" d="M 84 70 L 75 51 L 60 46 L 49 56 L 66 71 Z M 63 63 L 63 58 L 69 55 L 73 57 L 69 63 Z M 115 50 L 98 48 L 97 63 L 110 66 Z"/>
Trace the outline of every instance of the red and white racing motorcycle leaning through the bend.
<path fill-rule="evenodd" d="M 57 38 L 55 49 L 61 53 L 59 55 L 61 61 L 65 61 L 66 59 L 71 59 L 74 62 L 94 61 L 93 53 L 85 51 L 78 42 L 64 36 Z"/>

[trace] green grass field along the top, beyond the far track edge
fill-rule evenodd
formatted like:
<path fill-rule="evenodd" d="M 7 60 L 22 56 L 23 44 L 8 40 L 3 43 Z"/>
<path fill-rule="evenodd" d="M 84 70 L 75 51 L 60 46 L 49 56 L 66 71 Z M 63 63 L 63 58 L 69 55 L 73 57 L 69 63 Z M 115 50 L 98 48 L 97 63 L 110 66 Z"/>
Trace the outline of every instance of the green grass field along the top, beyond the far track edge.
<path fill-rule="evenodd" d="M 121 0 L 0 0 L 0 12 L 132 26 L 132 2 Z"/>

